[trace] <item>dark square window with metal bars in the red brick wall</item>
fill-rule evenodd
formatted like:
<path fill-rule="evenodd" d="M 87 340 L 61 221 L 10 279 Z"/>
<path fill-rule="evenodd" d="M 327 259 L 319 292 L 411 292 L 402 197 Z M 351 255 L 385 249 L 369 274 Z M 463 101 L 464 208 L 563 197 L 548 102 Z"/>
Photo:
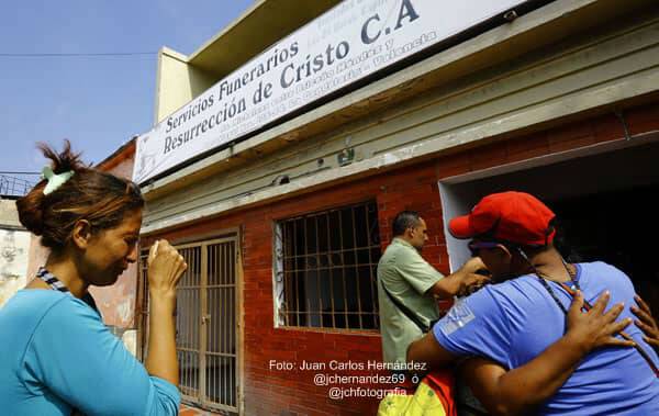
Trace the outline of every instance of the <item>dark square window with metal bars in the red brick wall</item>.
<path fill-rule="evenodd" d="M 379 328 L 375 201 L 283 220 L 275 227 L 278 325 Z"/>

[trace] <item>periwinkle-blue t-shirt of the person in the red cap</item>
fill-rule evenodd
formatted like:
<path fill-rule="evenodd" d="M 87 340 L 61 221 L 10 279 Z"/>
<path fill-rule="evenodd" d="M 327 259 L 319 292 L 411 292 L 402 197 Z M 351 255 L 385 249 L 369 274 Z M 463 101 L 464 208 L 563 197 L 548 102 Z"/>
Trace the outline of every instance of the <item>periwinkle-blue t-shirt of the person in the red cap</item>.
<path fill-rule="evenodd" d="M 635 292 L 625 273 L 604 262 L 581 263 L 577 265 L 577 280 L 591 304 L 608 290 L 607 308 L 624 302 L 618 319 L 633 317 L 628 307 L 634 304 Z M 548 283 L 569 308 L 572 297 L 558 283 Z M 540 355 L 565 330 L 565 313 L 535 276 L 483 288 L 458 302 L 433 328 L 446 350 L 485 357 L 507 369 Z M 659 366 L 641 331 L 634 324 L 625 331 Z M 659 415 L 659 380 L 635 348 L 597 349 L 585 357 L 538 414 Z"/>

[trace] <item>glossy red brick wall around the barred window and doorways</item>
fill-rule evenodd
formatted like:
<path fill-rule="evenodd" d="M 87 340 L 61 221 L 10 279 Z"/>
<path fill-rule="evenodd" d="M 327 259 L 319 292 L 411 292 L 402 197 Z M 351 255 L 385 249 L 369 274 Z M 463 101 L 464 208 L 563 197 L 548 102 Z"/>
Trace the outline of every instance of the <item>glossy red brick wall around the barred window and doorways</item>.
<path fill-rule="evenodd" d="M 626 112 L 626 119 L 632 134 L 659 130 L 659 105 L 629 110 Z M 424 248 L 424 257 L 446 273 L 448 255 L 443 233 L 438 178 L 619 139 L 623 135 L 622 125 L 614 115 L 592 117 L 204 221 L 158 237 L 176 239 L 206 234 L 210 229 L 242 227 L 245 367 L 243 382 L 247 415 L 375 415 L 378 400 L 333 401 L 327 396 L 328 387 L 313 384 L 313 371 L 269 370 L 271 359 L 295 364 L 302 360 L 365 362 L 381 359 L 380 337 L 375 333 L 273 328 L 272 222 L 375 198 L 378 202 L 380 235 L 384 248 L 391 239 L 390 223 L 393 216 L 401 210 L 416 210 L 428 224 L 429 241 Z"/>

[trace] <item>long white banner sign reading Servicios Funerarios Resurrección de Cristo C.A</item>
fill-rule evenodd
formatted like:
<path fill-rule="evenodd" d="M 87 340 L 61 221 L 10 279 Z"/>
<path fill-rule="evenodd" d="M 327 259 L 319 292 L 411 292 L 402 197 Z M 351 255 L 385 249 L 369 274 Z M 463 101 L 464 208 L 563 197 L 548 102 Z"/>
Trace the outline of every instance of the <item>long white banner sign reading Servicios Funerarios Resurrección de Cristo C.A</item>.
<path fill-rule="evenodd" d="M 346 0 L 138 137 L 133 180 L 154 178 L 524 2 Z"/>

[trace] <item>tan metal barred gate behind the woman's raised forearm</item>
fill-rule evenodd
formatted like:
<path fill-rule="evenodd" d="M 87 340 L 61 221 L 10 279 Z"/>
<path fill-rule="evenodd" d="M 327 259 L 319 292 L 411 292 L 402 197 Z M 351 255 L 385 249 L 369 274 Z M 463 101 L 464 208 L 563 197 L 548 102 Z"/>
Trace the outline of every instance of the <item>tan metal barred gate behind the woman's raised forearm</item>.
<path fill-rule="evenodd" d="M 177 288 L 176 349 L 185 402 L 212 411 L 238 411 L 237 239 L 176 246 L 188 263 Z M 148 293 L 142 255 L 143 293 Z M 144 296 L 142 357 L 148 339 Z"/>

